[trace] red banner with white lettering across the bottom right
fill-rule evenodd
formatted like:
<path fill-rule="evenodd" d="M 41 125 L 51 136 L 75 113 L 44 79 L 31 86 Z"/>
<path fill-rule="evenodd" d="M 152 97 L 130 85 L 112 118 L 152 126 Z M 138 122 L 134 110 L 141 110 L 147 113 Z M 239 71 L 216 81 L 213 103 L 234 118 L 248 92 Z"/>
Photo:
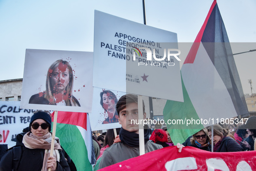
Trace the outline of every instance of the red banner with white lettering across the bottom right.
<path fill-rule="evenodd" d="M 125 155 L 123 153 L 122 155 Z M 102 168 L 102 171 L 256 171 L 256 151 L 207 152 L 194 147 L 165 147 Z M 100 170 L 100 171 L 101 171 Z"/>

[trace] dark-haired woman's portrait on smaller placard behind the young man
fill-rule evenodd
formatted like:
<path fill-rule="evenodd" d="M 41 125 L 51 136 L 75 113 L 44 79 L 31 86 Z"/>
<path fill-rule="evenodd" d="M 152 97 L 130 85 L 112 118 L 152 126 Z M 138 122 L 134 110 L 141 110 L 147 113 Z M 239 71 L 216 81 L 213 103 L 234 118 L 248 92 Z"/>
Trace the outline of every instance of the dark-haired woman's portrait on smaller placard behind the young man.
<path fill-rule="evenodd" d="M 116 95 L 110 90 L 103 90 L 100 93 L 100 105 L 105 113 L 107 112 L 107 118 L 102 124 L 118 122 L 118 114 L 116 110 L 117 101 Z"/>

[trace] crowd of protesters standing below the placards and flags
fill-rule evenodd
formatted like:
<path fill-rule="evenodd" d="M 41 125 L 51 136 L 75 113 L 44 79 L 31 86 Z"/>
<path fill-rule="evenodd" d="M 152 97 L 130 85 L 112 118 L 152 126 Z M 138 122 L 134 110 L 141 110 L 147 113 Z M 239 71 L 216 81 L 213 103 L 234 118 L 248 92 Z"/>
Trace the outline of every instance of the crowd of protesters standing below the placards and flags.
<path fill-rule="evenodd" d="M 127 94 L 116 104 L 119 129 L 108 129 L 102 134 L 92 134 L 94 155 L 97 159 L 94 170 L 139 156 L 139 127 L 129 124 L 131 119 L 138 119 L 138 98 Z M 143 103 L 143 117 L 146 118 Z M 0 146 L 0 171 L 33 170 L 76 171 L 71 158 L 65 154 L 55 137 L 54 155 L 49 155 L 52 141 L 51 115 L 45 111 L 36 111 L 29 127 L 16 136 L 16 146 Z M 251 116 L 246 125 L 220 125 L 204 128 L 194 133 L 182 144 L 177 143 L 178 152 L 185 146 L 191 146 L 208 152 L 252 151 L 256 146 L 256 116 Z M 213 130 L 213 137 L 212 137 Z M 2 136 L 0 135 L 0 139 Z M 213 149 L 211 143 L 213 142 Z M 172 134 L 167 127 L 149 129 L 144 127 L 145 153 L 160 148 L 174 146 Z M 8 149 L 9 148 L 9 149 Z M 18 160 L 16 160 L 16 154 Z M 29 165 L 27 163 L 29 161 Z"/>

